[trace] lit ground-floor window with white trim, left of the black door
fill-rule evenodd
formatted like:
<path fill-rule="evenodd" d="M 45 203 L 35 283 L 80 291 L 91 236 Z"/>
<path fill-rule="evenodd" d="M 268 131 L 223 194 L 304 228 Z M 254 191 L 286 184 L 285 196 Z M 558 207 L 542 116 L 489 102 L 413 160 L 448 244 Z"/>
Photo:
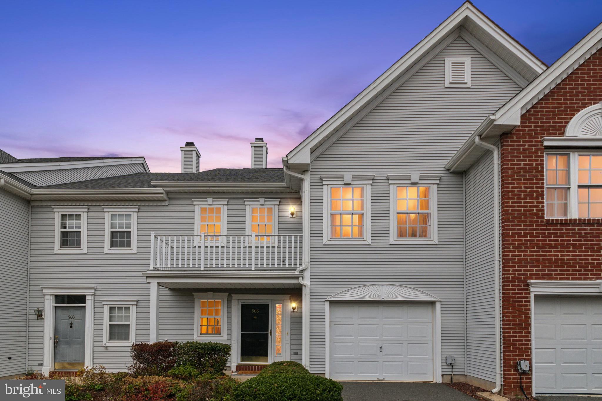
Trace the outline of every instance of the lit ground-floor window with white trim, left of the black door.
<path fill-rule="evenodd" d="M 194 293 L 197 340 L 223 340 L 226 338 L 227 293 Z"/>

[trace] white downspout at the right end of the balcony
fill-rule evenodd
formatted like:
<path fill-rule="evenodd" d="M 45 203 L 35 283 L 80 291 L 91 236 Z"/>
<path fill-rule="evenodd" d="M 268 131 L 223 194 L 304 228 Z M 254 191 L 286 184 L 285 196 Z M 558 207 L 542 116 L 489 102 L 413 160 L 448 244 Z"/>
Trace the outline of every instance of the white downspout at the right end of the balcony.
<path fill-rule="evenodd" d="M 301 180 L 301 210 L 302 210 L 302 229 L 303 229 L 303 266 L 299 267 L 295 273 L 303 272 L 303 277 L 299 278 L 299 284 L 303 285 L 303 341 L 302 341 L 302 361 L 303 366 L 309 370 L 309 178 L 308 176 L 294 173 L 288 167 L 284 167 L 284 172 Z M 309 173 L 308 173 L 309 174 Z"/>

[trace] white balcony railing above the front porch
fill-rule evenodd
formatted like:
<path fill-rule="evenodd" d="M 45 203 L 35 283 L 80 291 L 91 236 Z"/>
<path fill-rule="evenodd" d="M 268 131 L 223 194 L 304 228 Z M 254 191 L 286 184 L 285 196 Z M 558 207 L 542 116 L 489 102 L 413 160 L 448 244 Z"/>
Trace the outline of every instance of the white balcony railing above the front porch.
<path fill-rule="evenodd" d="M 295 270 L 300 234 L 161 235 L 151 233 L 151 270 Z"/>

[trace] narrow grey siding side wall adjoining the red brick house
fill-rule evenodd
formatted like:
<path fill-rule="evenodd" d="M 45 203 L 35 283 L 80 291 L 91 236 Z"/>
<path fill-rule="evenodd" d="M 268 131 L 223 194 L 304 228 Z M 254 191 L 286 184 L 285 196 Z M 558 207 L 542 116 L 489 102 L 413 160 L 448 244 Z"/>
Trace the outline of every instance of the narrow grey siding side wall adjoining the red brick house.
<path fill-rule="evenodd" d="M 495 381 L 493 155 L 465 173 L 467 373 Z"/>

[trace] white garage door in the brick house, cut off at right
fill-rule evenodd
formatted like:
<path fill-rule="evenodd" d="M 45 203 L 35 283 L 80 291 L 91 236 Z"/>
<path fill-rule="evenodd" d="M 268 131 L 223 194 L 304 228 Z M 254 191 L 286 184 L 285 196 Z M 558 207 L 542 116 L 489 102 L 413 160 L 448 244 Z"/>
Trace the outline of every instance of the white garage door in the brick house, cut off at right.
<path fill-rule="evenodd" d="M 536 297 L 534 340 L 536 393 L 602 394 L 602 298 Z"/>

